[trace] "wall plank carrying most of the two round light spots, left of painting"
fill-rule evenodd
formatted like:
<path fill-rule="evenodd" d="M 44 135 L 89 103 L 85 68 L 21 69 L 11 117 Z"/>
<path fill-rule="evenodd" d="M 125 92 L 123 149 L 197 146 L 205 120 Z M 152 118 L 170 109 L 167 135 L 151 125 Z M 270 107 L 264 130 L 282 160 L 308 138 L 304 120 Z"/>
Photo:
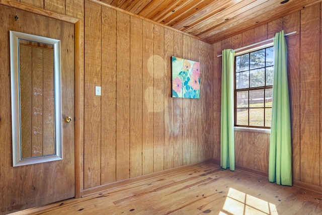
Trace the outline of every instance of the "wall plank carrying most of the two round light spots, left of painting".
<path fill-rule="evenodd" d="M 164 149 L 165 149 L 165 29 L 162 26 L 154 25 L 153 31 L 153 172 L 164 170 Z"/>

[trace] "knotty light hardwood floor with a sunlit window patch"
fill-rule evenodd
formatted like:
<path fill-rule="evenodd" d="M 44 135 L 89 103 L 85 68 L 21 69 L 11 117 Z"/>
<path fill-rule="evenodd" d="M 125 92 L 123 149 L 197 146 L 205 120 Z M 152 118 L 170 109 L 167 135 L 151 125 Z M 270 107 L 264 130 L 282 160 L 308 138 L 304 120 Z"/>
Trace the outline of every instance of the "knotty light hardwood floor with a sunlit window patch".
<path fill-rule="evenodd" d="M 322 194 L 205 162 L 15 214 L 322 214 Z"/>

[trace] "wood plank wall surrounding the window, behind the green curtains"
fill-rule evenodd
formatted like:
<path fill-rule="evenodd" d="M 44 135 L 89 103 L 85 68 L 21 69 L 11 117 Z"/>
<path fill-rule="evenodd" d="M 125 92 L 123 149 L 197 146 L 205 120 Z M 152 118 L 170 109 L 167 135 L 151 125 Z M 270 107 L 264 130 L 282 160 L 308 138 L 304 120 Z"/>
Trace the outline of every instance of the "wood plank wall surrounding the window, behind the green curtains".
<path fill-rule="evenodd" d="M 297 31 L 286 37 L 291 104 L 293 179 L 322 186 L 321 160 L 321 15 L 320 4 L 247 30 L 213 44 L 213 82 L 220 80 L 221 50 L 238 48 L 272 38 L 281 30 Z M 220 92 L 219 86 L 214 86 Z M 219 93 L 218 93 L 219 94 Z M 213 94 L 214 160 L 220 155 L 220 97 Z M 235 162 L 241 168 L 268 174 L 269 134 L 235 131 Z"/>

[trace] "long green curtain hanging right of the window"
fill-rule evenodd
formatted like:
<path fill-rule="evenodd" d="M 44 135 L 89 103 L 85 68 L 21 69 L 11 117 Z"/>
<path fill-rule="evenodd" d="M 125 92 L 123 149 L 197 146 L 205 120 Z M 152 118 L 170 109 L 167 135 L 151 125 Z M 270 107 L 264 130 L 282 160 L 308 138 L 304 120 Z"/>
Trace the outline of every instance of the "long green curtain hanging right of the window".
<path fill-rule="evenodd" d="M 274 39 L 274 81 L 269 153 L 269 181 L 292 185 L 291 117 L 284 31 Z"/>

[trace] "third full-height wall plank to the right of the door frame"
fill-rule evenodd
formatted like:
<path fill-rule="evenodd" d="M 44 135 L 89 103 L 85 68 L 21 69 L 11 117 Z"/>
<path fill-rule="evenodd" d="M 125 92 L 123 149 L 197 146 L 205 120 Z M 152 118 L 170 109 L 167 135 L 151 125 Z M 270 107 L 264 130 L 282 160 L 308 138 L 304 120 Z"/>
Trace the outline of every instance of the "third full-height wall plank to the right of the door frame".
<path fill-rule="evenodd" d="M 130 177 L 130 16 L 116 13 L 116 180 Z"/>

